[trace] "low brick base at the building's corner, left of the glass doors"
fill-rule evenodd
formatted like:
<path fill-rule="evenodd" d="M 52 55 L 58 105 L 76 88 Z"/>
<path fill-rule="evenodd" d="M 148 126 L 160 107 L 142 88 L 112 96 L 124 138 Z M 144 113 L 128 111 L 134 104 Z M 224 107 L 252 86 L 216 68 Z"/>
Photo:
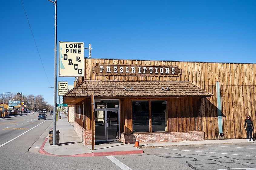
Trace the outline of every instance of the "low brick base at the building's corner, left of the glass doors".
<path fill-rule="evenodd" d="M 78 135 L 78 137 L 80 138 L 80 140 L 83 142 L 83 145 L 91 145 L 91 142 L 92 142 L 91 130 L 85 130 L 76 122 L 74 122 L 74 130 Z M 95 135 L 94 135 L 94 139 L 95 139 Z M 95 145 L 95 141 L 94 141 L 94 145 Z"/>

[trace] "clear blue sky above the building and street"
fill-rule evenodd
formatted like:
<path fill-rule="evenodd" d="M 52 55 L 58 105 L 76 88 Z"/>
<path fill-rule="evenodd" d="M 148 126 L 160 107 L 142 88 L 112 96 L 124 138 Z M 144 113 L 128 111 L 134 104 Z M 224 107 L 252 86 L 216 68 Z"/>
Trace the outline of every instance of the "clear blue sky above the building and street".
<path fill-rule="evenodd" d="M 0 93 L 41 94 L 53 104 L 54 5 L 22 2 L 50 83 L 21 1 L 3 1 Z M 256 1 L 57 2 L 57 40 L 91 43 L 93 58 L 256 63 Z"/>

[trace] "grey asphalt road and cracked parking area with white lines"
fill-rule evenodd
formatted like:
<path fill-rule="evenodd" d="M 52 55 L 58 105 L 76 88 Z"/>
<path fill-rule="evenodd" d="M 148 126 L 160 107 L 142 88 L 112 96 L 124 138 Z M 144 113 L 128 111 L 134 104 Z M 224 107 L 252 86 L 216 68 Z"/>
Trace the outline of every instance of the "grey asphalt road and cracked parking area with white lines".
<path fill-rule="evenodd" d="M 143 154 L 117 156 L 58 157 L 29 152 L 31 149 L 37 149 L 35 148 L 37 144 L 42 144 L 46 137 L 44 134 L 52 127 L 52 115 L 49 113 L 47 115 L 46 121 L 37 120 L 37 114 L 0 120 L 0 169 L 256 168 L 256 141 L 255 143 L 144 148 Z M 10 142 L 6 143 L 8 141 Z M 6 144 L 3 145 L 4 143 Z"/>

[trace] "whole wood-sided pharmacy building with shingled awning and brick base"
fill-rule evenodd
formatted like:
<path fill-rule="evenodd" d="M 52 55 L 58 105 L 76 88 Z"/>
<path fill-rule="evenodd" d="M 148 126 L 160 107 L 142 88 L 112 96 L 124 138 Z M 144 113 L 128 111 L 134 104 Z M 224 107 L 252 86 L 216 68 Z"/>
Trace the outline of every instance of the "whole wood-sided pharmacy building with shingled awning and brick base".
<path fill-rule="evenodd" d="M 256 120 L 256 64 L 85 58 L 64 95 L 85 145 L 246 138 Z M 92 132 L 94 132 L 92 135 Z"/>

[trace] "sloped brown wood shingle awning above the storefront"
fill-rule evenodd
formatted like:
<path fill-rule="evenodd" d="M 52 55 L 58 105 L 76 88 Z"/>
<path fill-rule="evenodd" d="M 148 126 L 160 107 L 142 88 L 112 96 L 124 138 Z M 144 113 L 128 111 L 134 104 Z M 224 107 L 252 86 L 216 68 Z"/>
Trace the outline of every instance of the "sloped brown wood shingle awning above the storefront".
<path fill-rule="evenodd" d="M 64 98 L 97 96 L 211 97 L 213 94 L 190 82 L 88 80 L 63 95 Z"/>

